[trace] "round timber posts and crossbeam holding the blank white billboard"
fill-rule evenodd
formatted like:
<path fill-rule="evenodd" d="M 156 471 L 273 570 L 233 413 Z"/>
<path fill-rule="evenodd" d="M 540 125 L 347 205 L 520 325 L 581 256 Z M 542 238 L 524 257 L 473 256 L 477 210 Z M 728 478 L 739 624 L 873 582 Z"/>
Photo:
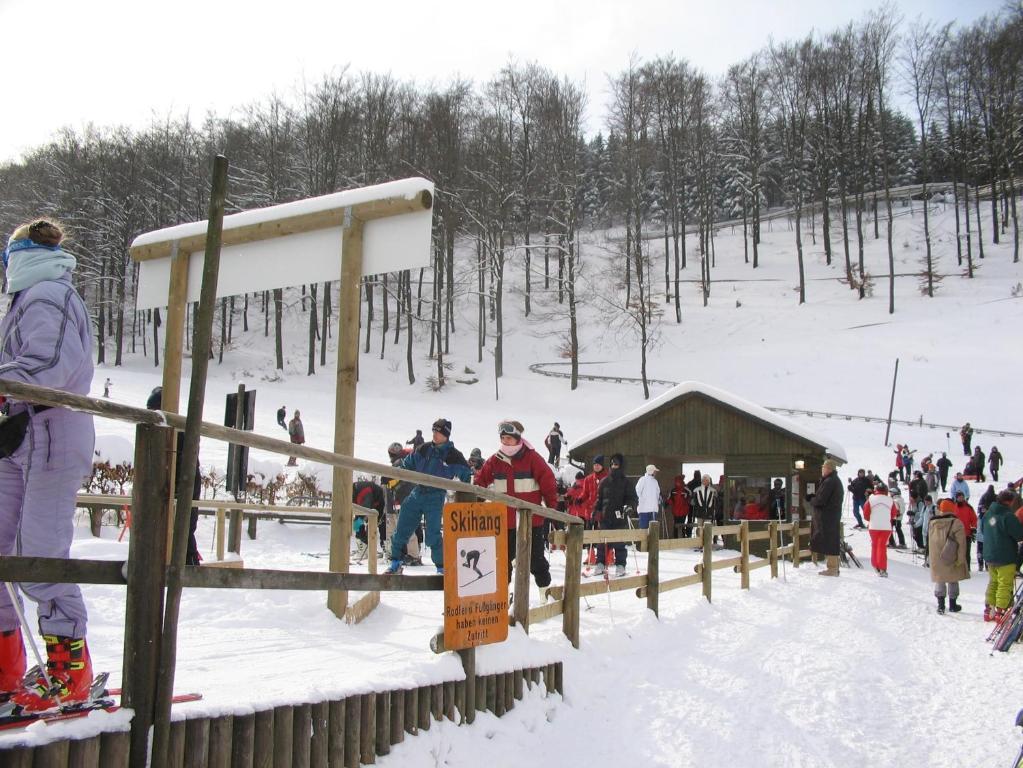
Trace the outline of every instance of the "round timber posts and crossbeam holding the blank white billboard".
<path fill-rule="evenodd" d="M 427 180 L 422 180 L 428 183 Z M 349 190 L 354 191 L 354 190 Z M 362 278 L 363 228 L 377 219 L 419 213 L 433 209 L 430 189 L 411 194 L 397 194 L 377 199 L 339 206 L 330 210 L 302 212 L 271 221 L 256 222 L 228 228 L 222 234 L 222 245 L 284 237 L 320 229 L 342 228 L 341 298 L 338 312 L 338 361 L 335 391 L 333 451 L 346 456 L 355 452 L 355 412 L 359 358 L 359 291 Z M 287 205 L 287 204 L 285 204 Z M 171 260 L 167 297 L 167 321 L 164 330 L 163 410 L 180 412 L 181 368 L 184 354 L 185 315 L 187 311 L 188 264 L 193 254 L 206 250 L 206 233 L 169 236 L 164 240 L 132 245 L 131 258 L 136 262 L 153 259 Z M 352 538 L 351 493 L 338 489 L 352 487 L 352 470 L 333 467 L 333 489 L 330 505 L 329 571 L 348 573 Z M 348 591 L 327 593 L 327 607 L 335 616 L 345 618 Z"/>

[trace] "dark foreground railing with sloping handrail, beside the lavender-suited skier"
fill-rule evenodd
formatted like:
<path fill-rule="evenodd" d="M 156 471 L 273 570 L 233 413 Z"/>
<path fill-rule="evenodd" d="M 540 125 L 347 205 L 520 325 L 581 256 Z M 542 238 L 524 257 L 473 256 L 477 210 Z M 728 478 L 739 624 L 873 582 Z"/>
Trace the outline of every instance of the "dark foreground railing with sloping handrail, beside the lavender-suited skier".
<path fill-rule="evenodd" d="M 173 478 L 170 472 L 172 462 L 168 460 L 168 457 L 173 455 L 175 450 L 174 431 L 185 430 L 186 418 L 175 413 L 134 408 L 112 403 L 108 400 L 73 395 L 6 379 L 0 379 L 0 394 L 17 401 L 70 408 L 136 424 L 135 484 L 131 499 L 134 514 L 127 561 L 0 556 L 0 580 L 2 581 L 121 584 L 127 586 L 122 705 L 126 708 L 132 708 L 135 713 L 131 723 L 128 757 L 130 765 L 149 763 L 155 768 L 162 768 L 168 764 L 169 760 L 166 751 L 150 750 L 150 733 L 155 729 L 158 740 L 166 746 L 171 727 L 170 694 L 174 689 L 173 670 L 176 663 L 174 638 L 177 635 L 177 623 L 176 614 L 174 621 L 165 620 L 163 608 L 165 590 L 170 592 L 167 585 L 172 577 L 182 587 L 206 589 L 360 590 L 379 594 L 385 591 L 440 591 L 444 588 L 442 576 L 383 576 L 243 568 L 208 569 L 182 567 L 173 560 L 170 566 L 166 566 L 167 552 L 170 551 L 167 513 L 173 495 Z M 525 532 L 528 534 L 530 515 L 539 514 L 568 525 L 569 530 L 577 532 L 580 538 L 582 535 L 582 525 L 578 517 L 531 504 L 490 489 L 468 487 L 464 483 L 457 481 L 421 475 L 402 467 L 365 461 L 304 445 L 295 445 L 291 442 L 206 421 L 198 422 L 197 430 L 199 435 L 208 439 L 258 448 L 279 455 L 297 456 L 353 471 L 386 475 L 397 480 L 446 491 L 470 492 L 475 497 L 520 509 L 521 533 L 523 532 L 522 526 L 525 525 L 527 526 Z M 178 514 L 180 515 L 180 511 Z M 338 525 L 340 521 L 331 518 L 331 523 Z M 182 530 L 180 518 L 176 525 L 178 530 Z M 184 530 L 187 528 L 185 527 Z M 370 535 L 375 536 L 375 531 L 376 527 L 371 526 Z M 529 535 L 520 535 L 519 537 L 516 584 L 528 583 L 530 539 Z M 577 547 L 577 551 L 580 550 L 581 548 Z M 375 552 L 375 545 L 373 551 Z M 522 556 L 523 552 L 526 554 L 525 557 Z M 567 586 L 572 581 L 571 578 L 567 579 Z M 574 581 L 576 583 L 579 581 L 578 569 Z M 528 628 L 528 590 L 519 590 L 518 594 L 515 595 L 513 615 L 518 622 Z M 578 606 L 574 612 L 565 612 L 565 632 L 573 638 L 573 643 L 578 646 Z M 166 639 L 168 633 L 171 634 L 170 642 Z M 475 653 L 473 650 L 469 649 L 460 653 L 463 668 L 466 671 L 466 685 L 475 684 Z M 472 678 L 470 679 L 471 671 Z M 161 691 L 161 701 L 158 701 L 158 691 Z M 475 710 L 466 713 L 466 719 L 472 721 L 474 713 Z"/>

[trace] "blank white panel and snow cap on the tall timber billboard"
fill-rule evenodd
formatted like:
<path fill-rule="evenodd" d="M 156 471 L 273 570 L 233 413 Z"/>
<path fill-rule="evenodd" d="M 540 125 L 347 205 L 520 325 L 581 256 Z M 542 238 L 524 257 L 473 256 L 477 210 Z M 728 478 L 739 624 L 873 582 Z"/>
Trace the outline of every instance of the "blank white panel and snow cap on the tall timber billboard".
<path fill-rule="evenodd" d="M 414 200 L 424 192 L 433 197 L 433 182 L 421 178 L 402 179 L 225 216 L 225 244 L 220 253 L 217 297 L 337 280 L 341 277 L 343 230 L 340 224 L 277 236 L 271 233 L 265 239 L 252 239 L 238 244 L 228 244 L 230 230 L 326 215 L 377 200 Z M 340 215 L 337 221 L 341 221 Z M 432 208 L 365 222 L 362 235 L 362 274 L 429 267 L 432 224 Z M 207 227 L 208 222 L 197 221 L 146 232 L 135 238 L 131 250 L 134 255 L 139 249 L 152 249 L 186 239 L 193 242 L 196 238 L 205 240 Z M 267 230 L 272 232 L 272 226 L 267 226 Z M 202 278 L 202 256 L 189 259 L 188 302 L 198 301 Z M 166 306 L 170 279 L 169 256 L 141 259 L 138 309 Z"/>

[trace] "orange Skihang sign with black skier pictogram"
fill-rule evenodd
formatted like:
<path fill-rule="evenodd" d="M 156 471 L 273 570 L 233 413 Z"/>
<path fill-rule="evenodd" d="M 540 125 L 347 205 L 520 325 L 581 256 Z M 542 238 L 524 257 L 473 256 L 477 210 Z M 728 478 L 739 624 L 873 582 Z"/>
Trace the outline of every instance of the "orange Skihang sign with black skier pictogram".
<path fill-rule="evenodd" d="M 508 636 L 507 516 L 503 504 L 444 505 L 444 647 Z"/>

